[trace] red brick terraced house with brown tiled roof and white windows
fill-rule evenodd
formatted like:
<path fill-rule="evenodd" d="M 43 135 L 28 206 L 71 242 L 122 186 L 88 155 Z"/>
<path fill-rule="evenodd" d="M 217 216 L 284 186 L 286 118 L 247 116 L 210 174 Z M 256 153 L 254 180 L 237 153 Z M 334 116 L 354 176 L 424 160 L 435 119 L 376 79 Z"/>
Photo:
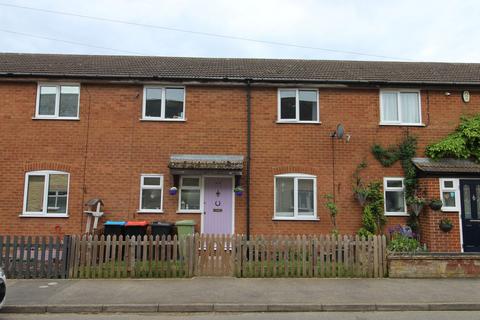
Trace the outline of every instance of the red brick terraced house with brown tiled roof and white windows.
<path fill-rule="evenodd" d="M 339 231 L 354 234 L 363 160 L 363 179 L 383 184 L 387 226 L 405 224 L 402 167 L 371 148 L 409 134 L 425 197 L 443 199 L 420 214 L 422 241 L 475 251 L 480 166 L 423 152 L 480 112 L 479 89 L 478 64 L 0 54 L 0 233 L 81 233 L 92 198 L 100 223 L 329 233 L 331 194 Z"/>

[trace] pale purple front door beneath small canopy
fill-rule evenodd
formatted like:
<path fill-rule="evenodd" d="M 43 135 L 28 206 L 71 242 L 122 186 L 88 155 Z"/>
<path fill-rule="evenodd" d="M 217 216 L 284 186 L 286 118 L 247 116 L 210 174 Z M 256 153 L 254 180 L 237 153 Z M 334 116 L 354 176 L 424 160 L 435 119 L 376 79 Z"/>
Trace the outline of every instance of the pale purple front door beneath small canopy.
<path fill-rule="evenodd" d="M 233 234 L 233 181 L 206 177 L 204 181 L 203 233 Z"/>

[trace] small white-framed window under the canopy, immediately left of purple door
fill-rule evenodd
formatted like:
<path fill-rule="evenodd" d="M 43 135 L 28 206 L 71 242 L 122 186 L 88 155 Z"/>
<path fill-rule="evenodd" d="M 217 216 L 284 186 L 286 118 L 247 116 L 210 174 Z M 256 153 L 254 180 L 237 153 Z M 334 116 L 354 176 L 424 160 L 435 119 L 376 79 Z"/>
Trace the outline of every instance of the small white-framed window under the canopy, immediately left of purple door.
<path fill-rule="evenodd" d="M 202 210 L 202 179 L 198 176 L 180 177 L 178 212 L 200 212 Z"/>

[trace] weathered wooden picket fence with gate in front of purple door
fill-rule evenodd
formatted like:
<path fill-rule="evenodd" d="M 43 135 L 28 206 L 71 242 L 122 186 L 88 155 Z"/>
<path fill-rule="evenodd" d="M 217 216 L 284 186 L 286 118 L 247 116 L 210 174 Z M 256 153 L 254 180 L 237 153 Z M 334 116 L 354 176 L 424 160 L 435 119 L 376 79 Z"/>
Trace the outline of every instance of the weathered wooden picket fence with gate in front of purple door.
<path fill-rule="evenodd" d="M 387 275 L 372 236 L 72 236 L 70 278 L 370 277 Z"/>

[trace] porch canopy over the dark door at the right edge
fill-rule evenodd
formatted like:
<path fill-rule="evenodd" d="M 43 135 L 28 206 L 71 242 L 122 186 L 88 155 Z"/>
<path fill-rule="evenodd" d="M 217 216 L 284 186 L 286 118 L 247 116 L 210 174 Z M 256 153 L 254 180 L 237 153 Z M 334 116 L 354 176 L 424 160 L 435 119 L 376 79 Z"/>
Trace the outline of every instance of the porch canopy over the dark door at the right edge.
<path fill-rule="evenodd" d="M 468 159 L 412 158 L 412 162 L 421 176 L 480 177 L 480 164 Z"/>

